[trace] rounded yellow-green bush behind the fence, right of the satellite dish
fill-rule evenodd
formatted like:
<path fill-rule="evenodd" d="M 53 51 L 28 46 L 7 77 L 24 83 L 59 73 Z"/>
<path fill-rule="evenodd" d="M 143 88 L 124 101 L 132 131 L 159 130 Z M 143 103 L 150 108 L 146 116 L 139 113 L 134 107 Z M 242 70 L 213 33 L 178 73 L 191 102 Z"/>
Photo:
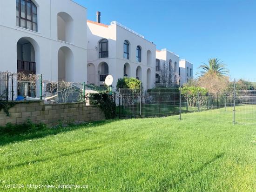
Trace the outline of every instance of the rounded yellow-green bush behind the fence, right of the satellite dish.
<path fill-rule="evenodd" d="M 141 81 L 136 78 L 124 77 L 117 80 L 116 89 L 140 89 Z"/>

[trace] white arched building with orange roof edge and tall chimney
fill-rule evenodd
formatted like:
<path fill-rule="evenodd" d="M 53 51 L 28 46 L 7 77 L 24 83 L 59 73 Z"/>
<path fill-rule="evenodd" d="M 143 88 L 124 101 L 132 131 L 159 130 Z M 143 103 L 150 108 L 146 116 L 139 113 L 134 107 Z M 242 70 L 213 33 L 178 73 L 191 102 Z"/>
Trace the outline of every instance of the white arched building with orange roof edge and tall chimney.
<path fill-rule="evenodd" d="M 87 21 L 88 26 L 88 84 L 103 85 L 111 74 L 113 87 L 119 78 L 135 77 L 144 89 L 155 83 L 156 46 L 139 33 L 113 21 L 110 25 Z"/>

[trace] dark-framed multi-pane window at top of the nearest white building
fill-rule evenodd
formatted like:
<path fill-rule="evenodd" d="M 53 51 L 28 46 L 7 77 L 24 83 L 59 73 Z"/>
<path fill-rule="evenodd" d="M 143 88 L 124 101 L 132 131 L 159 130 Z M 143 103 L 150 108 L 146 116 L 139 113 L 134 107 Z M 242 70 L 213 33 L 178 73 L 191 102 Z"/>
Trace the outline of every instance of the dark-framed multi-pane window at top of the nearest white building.
<path fill-rule="evenodd" d="M 25 18 L 21 16 L 21 1 L 25 2 Z M 30 4 L 30 20 L 27 19 L 27 4 Z M 19 7 L 17 7 L 19 5 Z M 33 6 L 36 8 L 36 13 L 33 12 Z M 19 16 L 17 15 L 17 8 L 19 8 Z M 33 21 L 33 16 L 36 15 L 36 22 Z M 19 23 L 17 22 L 19 20 Z M 21 26 L 21 20 L 25 21 L 25 27 Z M 31 23 L 31 29 L 27 28 L 27 23 Z M 36 25 L 36 29 L 34 29 L 33 24 Z M 16 26 L 19 26 L 21 28 L 38 32 L 38 10 L 37 6 L 34 4 L 32 0 L 16 0 Z"/>

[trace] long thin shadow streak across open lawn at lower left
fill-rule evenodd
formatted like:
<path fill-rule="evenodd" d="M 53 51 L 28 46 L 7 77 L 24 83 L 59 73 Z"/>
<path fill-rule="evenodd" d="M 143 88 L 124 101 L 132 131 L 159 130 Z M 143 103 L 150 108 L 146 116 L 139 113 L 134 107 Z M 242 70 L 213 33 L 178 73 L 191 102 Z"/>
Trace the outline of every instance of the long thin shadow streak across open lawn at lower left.
<path fill-rule="evenodd" d="M 18 163 L 18 164 L 11 165 L 11 166 L 1 167 L 0 170 L 12 169 L 14 167 L 27 166 L 27 165 L 30 165 L 30 164 L 41 163 L 41 162 L 45 162 L 47 160 L 58 159 L 58 158 L 61 158 L 61 157 L 68 157 L 70 155 L 79 154 L 79 153 L 87 152 L 87 151 L 93 151 L 95 149 L 100 149 L 100 148 L 101 148 L 101 146 L 98 146 L 98 147 L 93 147 L 93 148 L 82 149 L 82 150 L 79 150 L 79 151 L 67 152 L 67 153 L 61 154 L 61 155 L 56 156 L 56 157 L 45 158 L 45 159 L 38 159 L 38 160 L 32 160 L 32 161 L 26 161 L 26 162 Z"/>

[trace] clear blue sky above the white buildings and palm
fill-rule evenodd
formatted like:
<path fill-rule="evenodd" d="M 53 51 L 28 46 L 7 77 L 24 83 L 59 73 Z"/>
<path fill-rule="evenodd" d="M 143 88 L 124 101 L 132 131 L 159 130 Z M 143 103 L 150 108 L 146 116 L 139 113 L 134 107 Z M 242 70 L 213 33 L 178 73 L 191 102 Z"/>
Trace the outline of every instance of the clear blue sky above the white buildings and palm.
<path fill-rule="evenodd" d="M 88 19 L 121 24 L 194 64 L 217 57 L 230 77 L 256 79 L 256 0 L 74 0 Z"/>

